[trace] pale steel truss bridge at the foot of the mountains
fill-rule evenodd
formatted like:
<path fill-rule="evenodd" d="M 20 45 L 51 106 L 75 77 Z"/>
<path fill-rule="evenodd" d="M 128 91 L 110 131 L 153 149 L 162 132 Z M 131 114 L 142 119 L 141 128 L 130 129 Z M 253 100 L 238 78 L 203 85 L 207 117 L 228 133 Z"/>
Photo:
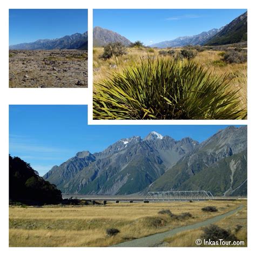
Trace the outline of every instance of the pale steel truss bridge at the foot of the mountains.
<path fill-rule="evenodd" d="M 161 191 L 148 192 L 144 201 L 186 201 L 186 200 L 214 200 L 210 191 Z"/>

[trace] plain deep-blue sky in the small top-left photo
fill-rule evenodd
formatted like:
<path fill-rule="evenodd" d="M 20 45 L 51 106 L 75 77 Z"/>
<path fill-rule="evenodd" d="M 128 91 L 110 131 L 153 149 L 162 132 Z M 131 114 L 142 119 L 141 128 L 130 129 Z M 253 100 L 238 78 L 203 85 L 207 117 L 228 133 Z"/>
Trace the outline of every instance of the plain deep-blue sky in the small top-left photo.
<path fill-rule="evenodd" d="M 87 31 L 87 9 L 10 9 L 9 45 Z"/>

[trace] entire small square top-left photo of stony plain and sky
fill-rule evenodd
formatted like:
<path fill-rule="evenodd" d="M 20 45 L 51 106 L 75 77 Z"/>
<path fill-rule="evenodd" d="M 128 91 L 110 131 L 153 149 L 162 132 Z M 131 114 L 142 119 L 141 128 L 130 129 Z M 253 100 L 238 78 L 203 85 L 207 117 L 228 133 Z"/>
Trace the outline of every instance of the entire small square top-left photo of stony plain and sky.
<path fill-rule="evenodd" d="M 87 45 L 87 9 L 10 9 L 9 87 L 87 87 Z"/>

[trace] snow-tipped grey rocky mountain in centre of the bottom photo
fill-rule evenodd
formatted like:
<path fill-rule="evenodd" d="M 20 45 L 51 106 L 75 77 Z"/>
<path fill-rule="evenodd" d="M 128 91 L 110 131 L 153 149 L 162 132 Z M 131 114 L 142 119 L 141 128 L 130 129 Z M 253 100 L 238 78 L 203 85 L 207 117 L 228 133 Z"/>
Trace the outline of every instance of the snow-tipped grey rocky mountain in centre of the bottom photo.
<path fill-rule="evenodd" d="M 102 152 L 80 152 L 44 178 L 64 193 L 131 194 L 142 191 L 191 152 L 198 142 L 151 132 L 145 139 L 120 139 Z"/>

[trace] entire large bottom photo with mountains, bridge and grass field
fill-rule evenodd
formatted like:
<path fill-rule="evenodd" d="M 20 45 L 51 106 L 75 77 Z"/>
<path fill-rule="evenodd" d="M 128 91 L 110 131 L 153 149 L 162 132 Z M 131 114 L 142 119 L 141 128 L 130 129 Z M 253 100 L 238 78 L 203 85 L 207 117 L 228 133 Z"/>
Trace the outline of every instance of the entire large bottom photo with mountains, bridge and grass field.
<path fill-rule="evenodd" d="M 9 105 L 9 246 L 246 247 L 247 125 Z"/>

